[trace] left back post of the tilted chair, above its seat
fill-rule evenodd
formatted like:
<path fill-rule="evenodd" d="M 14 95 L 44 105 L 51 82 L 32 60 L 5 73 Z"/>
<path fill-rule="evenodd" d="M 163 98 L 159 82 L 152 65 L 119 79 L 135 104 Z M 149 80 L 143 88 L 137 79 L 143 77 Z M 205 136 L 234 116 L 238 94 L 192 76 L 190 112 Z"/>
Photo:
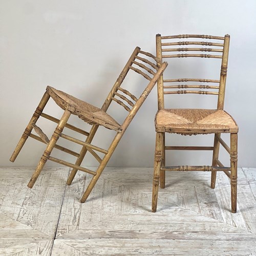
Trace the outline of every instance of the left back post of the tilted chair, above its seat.
<path fill-rule="evenodd" d="M 103 111 L 108 110 L 108 108 L 113 100 L 112 98 L 113 98 L 114 94 L 117 92 L 118 87 L 121 86 L 123 79 L 125 78 L 125 76 L 127 75 L 128 71 L 129 71 L 129 66 L 131 66 L 132 61 L 135 60 L 135 56 L 138 55 L 139 51 L 140 51 L 140 48 L 136 47 L 135 50 L 133 51 L 131 57 L 127 61 L 126 65 L 124 66 L 124 68 L 123 68 L 122 72 L 120 73 L 119 77 L 117 78 L 112 90 L 110 91 L 108 97 L 106 97 L 106 100 L 102 105 L 101 109 Z"/>

